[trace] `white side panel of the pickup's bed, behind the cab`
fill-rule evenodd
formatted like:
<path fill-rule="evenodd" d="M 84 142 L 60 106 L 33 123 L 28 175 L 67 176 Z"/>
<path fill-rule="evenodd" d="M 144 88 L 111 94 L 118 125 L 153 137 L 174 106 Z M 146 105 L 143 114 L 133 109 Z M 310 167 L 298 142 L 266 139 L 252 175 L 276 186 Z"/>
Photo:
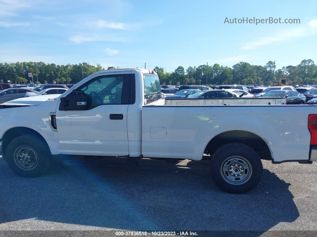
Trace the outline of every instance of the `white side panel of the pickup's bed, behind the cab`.
<path fill-rule="evenodd" d="M 307 105 L 146 105 L 142 107 L 142 154 L 200 160 L 213 138 L 242 131 L 248 134 L 243 139 L 251 136 L 267 144 L 275 162 L 308 160 L 307 118 L 316 111 L 317 107 Z"/>

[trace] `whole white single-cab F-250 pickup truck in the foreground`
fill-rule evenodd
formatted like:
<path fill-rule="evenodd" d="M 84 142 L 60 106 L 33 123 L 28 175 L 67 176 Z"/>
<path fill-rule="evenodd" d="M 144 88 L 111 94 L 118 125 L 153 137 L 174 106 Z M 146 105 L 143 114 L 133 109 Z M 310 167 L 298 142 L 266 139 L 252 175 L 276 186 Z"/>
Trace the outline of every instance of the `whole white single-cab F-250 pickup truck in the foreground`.
<path fill-rule="evenodd" d="M 214 182 L 244 193 L 259 183 L 261 159 L 317 161 L 314 105 L 166 105 L 157 74 L 145 69 L 96 72 L 55 97 L 1 105 L 0 152 L 20 176 L 42 175 L 54 157 L 105 167 L 133 166 L 142 157 L 209 157 Z M 93 162 L 91 156 L 127 162 Z"/>

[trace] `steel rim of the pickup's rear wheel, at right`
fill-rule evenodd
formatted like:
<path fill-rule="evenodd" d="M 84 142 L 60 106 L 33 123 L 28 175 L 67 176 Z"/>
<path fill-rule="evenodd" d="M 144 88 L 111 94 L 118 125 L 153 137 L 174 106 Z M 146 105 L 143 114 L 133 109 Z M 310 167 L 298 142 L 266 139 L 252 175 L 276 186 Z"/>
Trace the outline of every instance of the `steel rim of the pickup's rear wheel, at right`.
<path fill-rule="evenodd" d="M 222 162 L 220 173 L 228 184 L 241 185 L 251 178 L 252 166 L 242 156 L 230 156 Z"/>

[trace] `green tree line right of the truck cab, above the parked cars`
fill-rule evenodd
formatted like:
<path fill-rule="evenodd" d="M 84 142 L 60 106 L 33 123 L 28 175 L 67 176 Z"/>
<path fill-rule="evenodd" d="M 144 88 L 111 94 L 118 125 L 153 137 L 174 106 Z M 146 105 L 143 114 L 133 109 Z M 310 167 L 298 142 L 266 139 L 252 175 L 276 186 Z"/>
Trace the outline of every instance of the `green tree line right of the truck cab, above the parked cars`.
<path fill-rule="evenodd" d="M 232 68 L 219 64 L 200 65 L 198 67 L 179 66 L 174 72 L 164 72 L 163 67 L 155 67 L 161 84 L 183 85 L 183 84 L 271 84 L 280 78 L 287 78 L 290 84 L 317 84 L 317 66 L 311 59 L 302 60 L 296 66 L 283 66 L 276 70 L 273 61 L 266 65 L 250 65 L 247 62 L 239 62 Z"/>

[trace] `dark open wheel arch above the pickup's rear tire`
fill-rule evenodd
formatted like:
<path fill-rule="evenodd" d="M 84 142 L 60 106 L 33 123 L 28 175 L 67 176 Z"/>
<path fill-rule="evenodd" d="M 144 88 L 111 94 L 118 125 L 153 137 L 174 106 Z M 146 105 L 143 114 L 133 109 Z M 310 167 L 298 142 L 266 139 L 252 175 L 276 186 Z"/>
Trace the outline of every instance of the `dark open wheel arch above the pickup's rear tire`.
<path fill-rule="evenodd" d="M 230 130 L 217 134 L 207 143 L 204 153 L 212 155 L 219 147 L 231 142 L 251 147 L 261 159 L 273 160 L 268 142 L 258 134 L 245 130 Z"/>

